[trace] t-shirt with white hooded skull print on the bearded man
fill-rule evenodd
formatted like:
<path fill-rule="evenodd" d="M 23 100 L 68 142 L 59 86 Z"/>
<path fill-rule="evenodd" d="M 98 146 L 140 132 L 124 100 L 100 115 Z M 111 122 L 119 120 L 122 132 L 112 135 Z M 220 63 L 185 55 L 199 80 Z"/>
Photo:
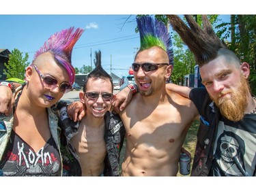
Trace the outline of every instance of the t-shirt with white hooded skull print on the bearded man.
<path fill-rule="evenodd" d="M 256 114 L 239 122 L 221 117 L 214 141 L 214 176 L 255 175 Z"/>

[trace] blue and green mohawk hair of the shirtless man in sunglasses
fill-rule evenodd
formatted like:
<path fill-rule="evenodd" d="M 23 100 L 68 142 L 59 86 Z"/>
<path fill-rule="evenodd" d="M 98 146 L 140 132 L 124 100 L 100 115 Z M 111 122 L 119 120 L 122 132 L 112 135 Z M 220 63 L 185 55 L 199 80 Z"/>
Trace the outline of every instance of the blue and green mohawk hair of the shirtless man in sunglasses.
<path fill-rule="evenodd" d="M 140 50 L 159 46 L 167 52 L 169 64 L 173 65 L 173 44 L 165 23 L 152 18 L 152 16 L 140 16 L 136 19 L 141 37 Z"/>

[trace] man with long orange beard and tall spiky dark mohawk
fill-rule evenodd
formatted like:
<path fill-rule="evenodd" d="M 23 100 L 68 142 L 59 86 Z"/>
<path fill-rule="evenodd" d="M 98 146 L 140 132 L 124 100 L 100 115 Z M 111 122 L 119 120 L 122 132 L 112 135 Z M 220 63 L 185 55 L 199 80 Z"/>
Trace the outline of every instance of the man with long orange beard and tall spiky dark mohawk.
<path fill-rule="evenodd" d="M 206 15 L 203 29 L 193 16 L 185 15 L 188 26 L 177 15 L 168 18 L 195 55 L 205 86 L 168 86 L 189 97 L 201 115 L 191 175 L 255 176 L 256 98 L 248 85 L 248 63 L 226 48 Z"/>

